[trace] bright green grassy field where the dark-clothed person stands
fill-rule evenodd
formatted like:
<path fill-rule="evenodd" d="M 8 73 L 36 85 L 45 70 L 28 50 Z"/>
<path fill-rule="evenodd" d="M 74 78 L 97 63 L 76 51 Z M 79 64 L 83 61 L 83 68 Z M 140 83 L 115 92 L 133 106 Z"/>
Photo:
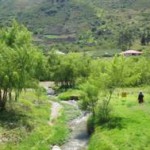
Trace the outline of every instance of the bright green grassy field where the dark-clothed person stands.
<path fill-rule="evenodd" d="M 89 150 L 149 150 L 150 149 L 150 94 L 143 88 L 144 104 L 137 101 L 139 88 L 124 89 L 127 97 L 118 90 L 111 105 L 113 117 L 110 122 L 98 125 L 90 139 Z"/>

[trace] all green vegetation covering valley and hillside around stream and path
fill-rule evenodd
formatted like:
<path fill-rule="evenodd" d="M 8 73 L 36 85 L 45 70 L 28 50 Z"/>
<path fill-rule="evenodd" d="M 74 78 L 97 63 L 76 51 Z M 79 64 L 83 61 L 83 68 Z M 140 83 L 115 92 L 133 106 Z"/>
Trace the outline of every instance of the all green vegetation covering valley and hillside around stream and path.
<path fill-rule="evenodd" d="M 54 81 L 59 99 L 78 97 L 90 112 L 89 150 L 149 149 L 149 14 L 149 0 L 1 0 L 1 149 L 45 150 L 67 139 L 67 122 L 80 112 L 58 101 L 65 110 L 50 126 L 41 80 Z M 34 41 L 26 27 L 10 24 L 14 17 Z M 51 47 L 36 47 L 36 39 Z M 130 48 L 144 54 L 115 55 Z M 143 86 L 146 102 L 139 105 Z"/>

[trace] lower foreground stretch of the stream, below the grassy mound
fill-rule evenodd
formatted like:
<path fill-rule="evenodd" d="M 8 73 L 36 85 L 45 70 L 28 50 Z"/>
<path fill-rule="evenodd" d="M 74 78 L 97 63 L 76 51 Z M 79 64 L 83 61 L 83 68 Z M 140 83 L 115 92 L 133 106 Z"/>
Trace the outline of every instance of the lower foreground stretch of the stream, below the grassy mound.
<path fill-rule="evenodd" d="M 87 150 L 87 145 L 89 141 L 89 135 L 87 132 L 87 119 L 89 114 L 82 112 L 75 101 L 64 101 L 63 105 L 70 105 L 70 110 L 68 113 L 80 112 L 78 116 L 72 120 L 69 120 L 68 126 L 71 130 L 68 141 L 62 146 L 55 145 L 52 150 Z M 64 107 L 66 109 L 66 106 Z M 79 113 L 78 112 L 78 113 Z"/>

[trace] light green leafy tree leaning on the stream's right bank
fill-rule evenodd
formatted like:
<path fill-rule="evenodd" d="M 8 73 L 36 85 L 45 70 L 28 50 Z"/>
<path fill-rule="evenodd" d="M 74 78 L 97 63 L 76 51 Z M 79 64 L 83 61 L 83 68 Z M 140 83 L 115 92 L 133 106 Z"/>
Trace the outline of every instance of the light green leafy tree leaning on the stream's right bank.
<path fill-rule="evenodd" d="M 116 56 L 109 61 L 95 60 L 91 66 L 88 80 L 81 85 L 85 93 L 81 106 L 92 112 L 94 120 L 105 122 L 109 119 L 112 94 L 117 87 L 124 86 L 126 80 L 125 58 Z"/>

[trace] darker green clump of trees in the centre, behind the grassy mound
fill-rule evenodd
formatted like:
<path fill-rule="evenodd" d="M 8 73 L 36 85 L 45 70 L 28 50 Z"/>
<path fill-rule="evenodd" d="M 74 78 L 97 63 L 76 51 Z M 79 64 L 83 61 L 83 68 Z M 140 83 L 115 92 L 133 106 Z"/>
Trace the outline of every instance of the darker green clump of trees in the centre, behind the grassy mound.
<path fill-rule="evenodd" d="M 78 66 L 78 67 L 76 67 Z M 90 58 L 78 53 L 49 54 L 48 67 L 51 80 L 63 88 L 74 87 L 77 80 L 86 78 L 90 72 Z"/>

